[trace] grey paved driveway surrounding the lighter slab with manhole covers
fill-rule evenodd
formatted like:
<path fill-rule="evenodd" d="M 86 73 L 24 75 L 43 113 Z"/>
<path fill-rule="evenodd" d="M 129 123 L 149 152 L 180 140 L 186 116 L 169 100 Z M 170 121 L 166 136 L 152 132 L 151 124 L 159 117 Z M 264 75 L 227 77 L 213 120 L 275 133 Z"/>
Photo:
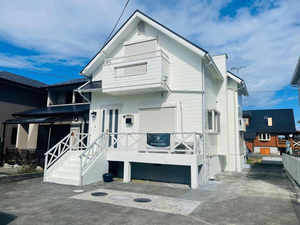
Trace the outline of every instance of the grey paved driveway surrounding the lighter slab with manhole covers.
<path fill-rule="evenodd" d="M 0 185 L 0 224 L 299 224 L 298 191 L 282 167 L 222 172 L 197 190 L 151 184 L 99 182 L 84 187 L 42 179 Z M 296 187 L 298 188 L 298 187 Z M 106 189 L 200 201 L 189 215 L 70 198 Z"/>

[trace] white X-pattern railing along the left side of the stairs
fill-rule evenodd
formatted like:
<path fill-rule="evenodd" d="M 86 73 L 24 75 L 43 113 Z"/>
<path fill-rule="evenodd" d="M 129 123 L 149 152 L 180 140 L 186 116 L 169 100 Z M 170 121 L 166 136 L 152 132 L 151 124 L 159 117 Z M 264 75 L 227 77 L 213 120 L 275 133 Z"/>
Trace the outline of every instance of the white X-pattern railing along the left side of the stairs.
<path fill-rule="evenodd" d="M 88 147 L 85 143 L 89 142 L 89 137 L 90 134 L 70 133 L 49 149 L 49 151 L 44 154 L 46 157 L 44 173 L 46 174 L 47 168 L 55 163 L 65 152 L 69 150 L 85 150 Z"/>

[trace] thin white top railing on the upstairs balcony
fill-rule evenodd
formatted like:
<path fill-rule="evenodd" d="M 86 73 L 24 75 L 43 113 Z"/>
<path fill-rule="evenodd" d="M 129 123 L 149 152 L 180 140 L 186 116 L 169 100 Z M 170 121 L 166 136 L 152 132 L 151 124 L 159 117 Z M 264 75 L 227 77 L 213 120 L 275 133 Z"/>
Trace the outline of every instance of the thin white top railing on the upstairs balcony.
<path fill-rule="evenodd" d="M 115 58 L 107 58 L 104 60 L 104 64 L 114 64 L 114 63 L 120 63 L 120 62 L 127 62 L 127 61 L 135 61 L 139 59 L 145 59 L 145 58 L 153 58 L 157 56 L 162 56 L 166 60 L 169 60 L 169 56 L 163 51 L 163 50 L 153 50 L 148 52 L 141 52 L 138 54 L 132 54 L 132 55 L 124 55 L 121 57 L 115 57 Z"/>

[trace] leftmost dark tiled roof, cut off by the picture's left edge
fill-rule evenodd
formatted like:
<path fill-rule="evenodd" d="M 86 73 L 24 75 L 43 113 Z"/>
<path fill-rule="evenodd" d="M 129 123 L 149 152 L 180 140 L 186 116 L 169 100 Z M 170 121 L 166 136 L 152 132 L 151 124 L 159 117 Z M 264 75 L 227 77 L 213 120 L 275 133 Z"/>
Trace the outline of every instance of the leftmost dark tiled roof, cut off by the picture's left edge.
<path fill-rule="evenodd" d="M 6 71 L 0 71 L 0 79 L 8 82 L 18 83 L 20 85 L 35 87 L 35 88 L 40 88 L 46 85 L 45 83 L 42 83 L 38 80 L 30 79 L 25 76 L 16 75 L 14 73 L 9 73 Z"/>

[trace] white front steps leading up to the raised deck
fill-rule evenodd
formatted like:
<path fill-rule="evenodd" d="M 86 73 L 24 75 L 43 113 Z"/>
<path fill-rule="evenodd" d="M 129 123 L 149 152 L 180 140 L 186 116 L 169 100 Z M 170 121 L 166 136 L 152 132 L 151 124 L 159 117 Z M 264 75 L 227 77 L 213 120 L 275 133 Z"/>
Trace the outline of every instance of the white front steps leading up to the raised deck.
<path fill-rule="evenodd" d="M 47 177 L 47 182 L 57 184 L 70 184 L 79 186 L 79 155 L 83 151 L 69 151 L 65 155 L 60 165 L 50 171 L 50 176 Z"/>

